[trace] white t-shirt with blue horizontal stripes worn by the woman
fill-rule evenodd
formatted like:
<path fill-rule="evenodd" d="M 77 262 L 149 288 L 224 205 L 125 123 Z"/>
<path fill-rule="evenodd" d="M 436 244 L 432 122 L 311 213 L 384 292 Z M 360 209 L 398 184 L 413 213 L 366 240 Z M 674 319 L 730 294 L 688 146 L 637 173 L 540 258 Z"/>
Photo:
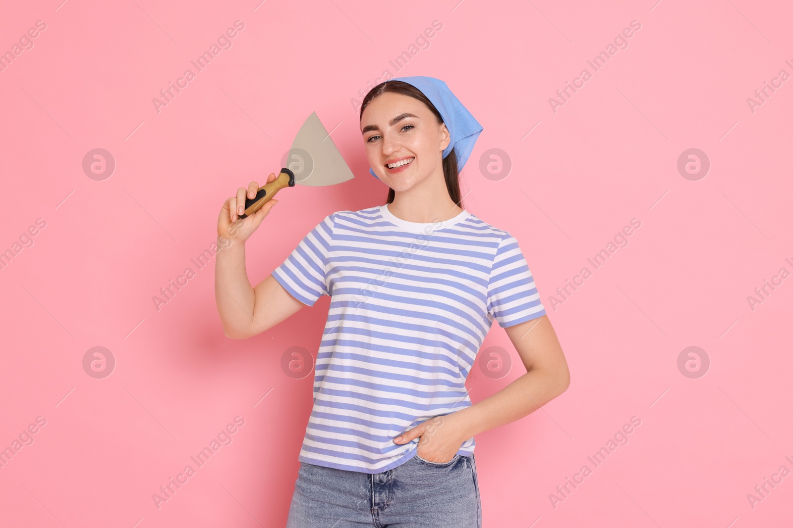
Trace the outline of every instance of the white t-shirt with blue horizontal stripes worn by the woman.
<path fill-rule="evenodd" d="M 362 473 L 407 462 L 418 439 L 394 438 L 472 405 L 465 378 L 493 319 L 546 313 L 515 237 L 468 211 L 432 223 L 385 205 L 339 211 L 272 275 L 308 306 L 331 297 L 298 459 Z"/>

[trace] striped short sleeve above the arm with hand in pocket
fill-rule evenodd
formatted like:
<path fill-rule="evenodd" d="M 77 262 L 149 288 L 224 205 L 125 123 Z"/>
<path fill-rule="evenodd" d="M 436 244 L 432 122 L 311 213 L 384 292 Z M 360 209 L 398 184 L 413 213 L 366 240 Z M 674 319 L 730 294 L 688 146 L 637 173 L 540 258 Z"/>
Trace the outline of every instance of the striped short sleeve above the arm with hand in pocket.
<path fill-rule="evenodd" d="M 488 313 L 502 328 L 546 314 L 534 277 L 518 241 L 511 234 L 501 239 L 488 279 Z"/>

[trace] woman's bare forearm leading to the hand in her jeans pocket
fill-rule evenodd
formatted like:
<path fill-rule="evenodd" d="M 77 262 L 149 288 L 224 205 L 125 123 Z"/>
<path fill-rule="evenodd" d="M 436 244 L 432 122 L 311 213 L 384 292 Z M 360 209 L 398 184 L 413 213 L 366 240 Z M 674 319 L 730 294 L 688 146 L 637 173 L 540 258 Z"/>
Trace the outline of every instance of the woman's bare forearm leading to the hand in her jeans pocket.
<path fill-rule="evenodd" d="M 462 441 L 509 424 L 542 407 L 567 389 L 568 382 L 547 368 L 534 368 L 497 393 L 449 416 Z"/>

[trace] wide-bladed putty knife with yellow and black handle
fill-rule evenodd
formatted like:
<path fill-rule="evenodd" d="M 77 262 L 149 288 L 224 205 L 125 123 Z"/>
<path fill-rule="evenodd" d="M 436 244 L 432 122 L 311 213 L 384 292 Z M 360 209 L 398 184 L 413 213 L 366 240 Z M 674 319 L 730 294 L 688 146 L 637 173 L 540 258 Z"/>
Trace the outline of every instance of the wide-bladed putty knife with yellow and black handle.
<path fill-rule="evenodd" d="M 350 166 L 344 161 L 316 112 L 312 112 L 297 131 L 286 156 L 286 165 L 275 180 L 259 187 L 254 198 L 245 199 L 245 213 L 239 218 L 259 211 L 282 188 L 294 187 L 295 184 L 321 187 L 354 178 Z"/>

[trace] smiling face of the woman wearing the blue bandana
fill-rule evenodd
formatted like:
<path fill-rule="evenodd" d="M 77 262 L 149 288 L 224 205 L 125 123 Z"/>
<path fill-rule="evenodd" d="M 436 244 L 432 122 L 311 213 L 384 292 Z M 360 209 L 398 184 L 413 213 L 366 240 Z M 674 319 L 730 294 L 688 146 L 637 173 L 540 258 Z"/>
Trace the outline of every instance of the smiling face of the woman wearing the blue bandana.
<path fill-rule="evenodd" d="M 363 111 L 361 131 L 372 170 L 394 191 L 408 190 L 436 173 L 443 177 L 449 131 L 418 99 L 392 92 L 375 97 Z M 397 161 L 409 163 L 389 168 Z"/>

